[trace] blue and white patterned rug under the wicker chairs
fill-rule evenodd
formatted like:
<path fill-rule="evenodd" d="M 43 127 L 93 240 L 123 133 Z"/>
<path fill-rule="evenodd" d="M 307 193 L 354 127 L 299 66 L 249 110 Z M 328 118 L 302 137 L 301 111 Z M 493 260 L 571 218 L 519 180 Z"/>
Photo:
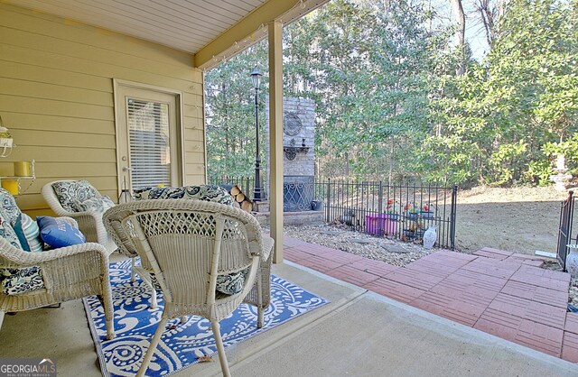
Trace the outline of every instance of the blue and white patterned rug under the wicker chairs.
<path fill-rule="evenodd" d="M 230 345 L 328 303 L 326 299 L 289 281 L 275 275 L 271 278 L 271 305 L 266 309 L 265 326 L 256 328 L 256 308 L 242 304 L 230 317 L 220 322 L 226 350 Z M 83 299 L 90 332 L 103 375 L 134 376 L 160 321 L 163 293 L 159 292 L 157 296 L 158 307 L 149 308 L 151 295 L 144 282 L 138 276 L 135 282 L 130 281 L 130 261 L 111 263 L 110 279 L 117 336 L 106 340 L 104 310 L 96 296 Z M 179 319 L 174 319 L 169 321 L 146 375 L 169 375 L 198 363 L 197 358 L 204 355 L 215 354 L 213 359 L 218 362 L 216 353 L 209 320 L 191 316 L 181 324 Z"/>

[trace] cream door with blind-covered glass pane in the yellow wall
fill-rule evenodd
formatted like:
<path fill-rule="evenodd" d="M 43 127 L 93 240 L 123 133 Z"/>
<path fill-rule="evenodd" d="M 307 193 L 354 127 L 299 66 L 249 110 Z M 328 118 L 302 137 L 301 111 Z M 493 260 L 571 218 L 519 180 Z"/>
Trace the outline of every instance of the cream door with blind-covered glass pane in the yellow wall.
<path fill-rule="evenodd" d="M 178 94 L 117 86 L 118 188 L 182 186 Z"/>

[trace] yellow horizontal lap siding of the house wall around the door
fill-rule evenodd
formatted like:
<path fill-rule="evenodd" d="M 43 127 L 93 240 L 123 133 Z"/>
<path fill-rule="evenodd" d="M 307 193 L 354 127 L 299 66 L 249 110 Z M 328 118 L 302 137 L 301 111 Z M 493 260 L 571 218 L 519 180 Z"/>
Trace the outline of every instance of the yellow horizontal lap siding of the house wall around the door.
<path fill-rule="evenodd" d="M 36 161 L 19 206 L 50 213 L 40 189 L 55 179 L 88 179 L 116 198 L 113 78 L 182 92 L 185 184 L 203 183 L 202 72 L 191 67 L 190 54 L 0 3 L 0 115 L 17 144 L 0 174 Z"/>

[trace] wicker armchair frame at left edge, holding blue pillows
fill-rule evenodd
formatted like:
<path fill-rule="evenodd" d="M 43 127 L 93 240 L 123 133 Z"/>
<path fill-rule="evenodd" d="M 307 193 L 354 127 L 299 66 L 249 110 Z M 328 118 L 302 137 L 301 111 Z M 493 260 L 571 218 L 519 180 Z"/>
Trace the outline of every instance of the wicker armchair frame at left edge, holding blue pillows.
<path fill-rule="evenodd" d="M 100 244 L 75 244 L 42 253 L 24 252 L 0 237 L 0 268 L 40 267 L 44 288 L 5 295 L 0 290 L 0 326 L 5 312 L 42 308 L 71 299 L 98 295 L 107 320 L 107 338 L 115 337 L 108 277 L 108 253 Z"/>

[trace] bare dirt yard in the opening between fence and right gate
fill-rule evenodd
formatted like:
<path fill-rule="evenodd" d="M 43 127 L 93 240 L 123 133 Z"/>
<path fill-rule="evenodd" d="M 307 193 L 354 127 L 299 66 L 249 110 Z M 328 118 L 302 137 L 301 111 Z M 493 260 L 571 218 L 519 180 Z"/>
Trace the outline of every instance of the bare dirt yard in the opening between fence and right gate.
<path fill-rule="evenodd" d="M 560 207 L 567 195 L 551 187 L 459 191 L 456 249 L 555 253 Z"/>

